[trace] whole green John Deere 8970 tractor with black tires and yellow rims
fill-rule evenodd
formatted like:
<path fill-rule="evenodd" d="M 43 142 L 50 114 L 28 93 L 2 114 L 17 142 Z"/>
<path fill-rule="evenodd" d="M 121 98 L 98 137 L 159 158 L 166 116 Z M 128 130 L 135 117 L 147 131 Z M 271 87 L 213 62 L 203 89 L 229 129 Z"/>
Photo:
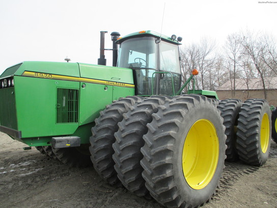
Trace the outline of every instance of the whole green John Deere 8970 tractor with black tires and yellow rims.
<path fill-rule="evenodd" d="M 92 162 L 109 184 L 167 207 L 207 202 L 226 155 L 266 162 L 266 100 L 218 101 L 215 92 L 195 89 L 197 70 L 182 85 L 182 38 L 175 35 L 112 33 L 113 67 L 105 66 L 105 33 L 98 65 L 22 62 L 6 69 L 0 131 L 65 164 Z"/>

